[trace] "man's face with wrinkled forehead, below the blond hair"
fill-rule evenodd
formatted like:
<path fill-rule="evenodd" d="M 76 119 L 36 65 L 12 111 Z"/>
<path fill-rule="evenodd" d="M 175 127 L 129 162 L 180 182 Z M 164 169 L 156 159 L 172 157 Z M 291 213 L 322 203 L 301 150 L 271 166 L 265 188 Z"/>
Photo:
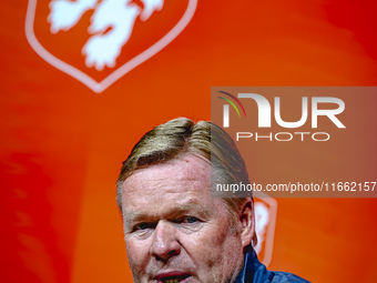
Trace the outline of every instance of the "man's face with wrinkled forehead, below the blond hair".
<path fill-rule="evenodd" d="M 123 183 L 124 233 L 134 282 L 234 282 L 240 233 L 211 198 L 211 165 L 183 156 L 136 171 Z M 241 225 L 241 224 L 240 224 Z"/>

